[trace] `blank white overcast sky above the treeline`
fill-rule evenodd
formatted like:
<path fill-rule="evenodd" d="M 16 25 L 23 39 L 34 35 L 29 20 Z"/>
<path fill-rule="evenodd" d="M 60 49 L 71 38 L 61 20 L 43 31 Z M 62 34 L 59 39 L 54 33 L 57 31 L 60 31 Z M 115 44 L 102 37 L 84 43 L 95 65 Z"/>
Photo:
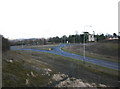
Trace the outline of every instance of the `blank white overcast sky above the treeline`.
<path fill-rule="evenodd" d="M 120 0 L 0 0 L 0 34 L 9 39 L 118 33 Z"/>

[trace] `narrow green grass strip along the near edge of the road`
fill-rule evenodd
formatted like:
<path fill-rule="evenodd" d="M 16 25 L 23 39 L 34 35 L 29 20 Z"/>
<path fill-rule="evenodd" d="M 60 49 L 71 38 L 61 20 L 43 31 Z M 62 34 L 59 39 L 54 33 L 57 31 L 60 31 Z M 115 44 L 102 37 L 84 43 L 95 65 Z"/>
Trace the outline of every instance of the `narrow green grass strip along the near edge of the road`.
<path fill-rule="evenodd" d="M 47 53 L 47 54 L 51 55 L 51 53 Z M 57 54 L 54 54 L 54 55 L 60 56 L 60 57 L 65 57 L 65 56 L 61 56 L 61 55 L 57 55 Z M 92 63 L 88 63 L 88 62 L 85 62 L 85 64 L 83 64 L 83 61 L 81 61 L 81 60 L 76 60 L 76 59 L 69 58 L 69 57 L 65 57 L 65 58 L 68 60 L 72 60 L 72 61 L 76 62 L 77 64 L 80 64 L 80 66 L 85 67 L 88 70 L 95 72 L 95 73 L 106 74 L 106 75 L 111 75 L 111 76 L 116 76 L 116 77 L 119 76 L 118 72 L 120 73 L 120 71 L 117 71 L 114 69 L 106 68 L 106 67 L 95 65 Z"/>

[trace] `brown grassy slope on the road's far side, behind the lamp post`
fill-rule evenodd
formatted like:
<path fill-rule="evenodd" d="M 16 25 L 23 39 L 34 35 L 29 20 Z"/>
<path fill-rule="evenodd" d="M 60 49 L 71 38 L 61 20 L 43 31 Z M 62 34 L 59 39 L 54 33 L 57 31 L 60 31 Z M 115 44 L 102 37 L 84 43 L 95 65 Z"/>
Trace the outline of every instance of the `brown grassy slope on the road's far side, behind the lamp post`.
<path fill-rule="evenodd" d="M 83 55 L 83 46 L 67 46 L 62 50 L 78 55 Z M 86 56 L 101 60 L 118 62 L 118 40 L 102 41 L 86 45 Z"/>

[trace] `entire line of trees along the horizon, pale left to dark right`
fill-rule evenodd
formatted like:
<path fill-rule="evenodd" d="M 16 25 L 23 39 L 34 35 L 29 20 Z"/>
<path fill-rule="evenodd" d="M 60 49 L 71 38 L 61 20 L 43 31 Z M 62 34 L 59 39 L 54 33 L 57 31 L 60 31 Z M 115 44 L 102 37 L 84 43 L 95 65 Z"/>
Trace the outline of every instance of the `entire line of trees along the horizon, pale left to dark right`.
<path fill-rule="evenodd" d="M 85 32 L 85 42 L 88 42 L 88 32 Z M 94 35 L 95 41 L 102 41 L 108 38 L 110 35 L 104 35 L 104 34 L 97 34 Z M 115 33 L 111 36 L 117 36 Z M 24 39 L 24 40 L 18 40 L 18 41 L 11 41 L 11 45 L 46 45 L 46 44 L 56 44 L 56 43 L 83 43 L 83 37 L 84 34 L 76 34 L 76 35 L 69 35 L 68 37 L 66 35 L 63 35 L 62 37 L 50 37 L 48 39 L 41 38 L 32 38 L 32 39 Z"/>

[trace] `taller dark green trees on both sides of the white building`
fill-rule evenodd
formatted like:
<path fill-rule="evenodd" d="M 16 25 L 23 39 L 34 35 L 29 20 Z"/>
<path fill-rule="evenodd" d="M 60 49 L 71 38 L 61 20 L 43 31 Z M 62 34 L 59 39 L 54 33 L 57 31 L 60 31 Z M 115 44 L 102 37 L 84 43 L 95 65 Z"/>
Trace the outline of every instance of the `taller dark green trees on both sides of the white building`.
<path fill-rule="evenodd" d="M 88 42 L 88 32 L 85 32 L 85 42 Z M 94 35 L 95 40 L 98 41 L 102 41 L 105 40 L 107 38 L 107 36 L 105 36 L 104 34 L 100 34 L 100 35 Z M 84 39 L 84 34 L 76 34 L 76 35 L 69 35 L 68 37 L 66 35 L 62 36 L 61 38 L 59 38 L 58 36 L 53 37 L 53 38 L 49 38 L 49 42 L 52 43 L 83 43 L 83 39 Z"/>

